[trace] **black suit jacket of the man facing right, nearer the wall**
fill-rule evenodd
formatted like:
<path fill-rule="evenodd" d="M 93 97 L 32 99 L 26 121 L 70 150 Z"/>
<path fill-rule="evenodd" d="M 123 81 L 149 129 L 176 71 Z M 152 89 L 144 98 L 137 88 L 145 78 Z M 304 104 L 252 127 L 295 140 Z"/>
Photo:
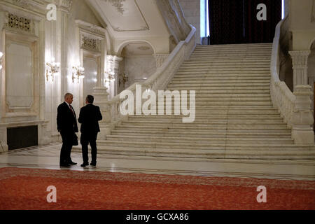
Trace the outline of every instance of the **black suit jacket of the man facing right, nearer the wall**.
<path fill-rule="evenodd" d="M 73 108 L 72 108 L 73 109 Z M 63 102 L 57 109 L 57 130 L 61 132 L 78 132 L 76 123 L 76 112 L 74 115 L 66 102 Z"/>

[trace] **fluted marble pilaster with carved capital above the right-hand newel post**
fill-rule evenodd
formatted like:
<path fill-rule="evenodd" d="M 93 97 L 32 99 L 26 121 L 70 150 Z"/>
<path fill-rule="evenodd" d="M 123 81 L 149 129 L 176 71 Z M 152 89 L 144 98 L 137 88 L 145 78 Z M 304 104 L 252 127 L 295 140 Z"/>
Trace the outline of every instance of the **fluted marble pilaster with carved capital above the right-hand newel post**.
<path fill-rule="evenodd" d="M 307 85 L 307 59 L 310 50 L 290 51 L 293 64 L 293 92 L 296 85 Z"/>

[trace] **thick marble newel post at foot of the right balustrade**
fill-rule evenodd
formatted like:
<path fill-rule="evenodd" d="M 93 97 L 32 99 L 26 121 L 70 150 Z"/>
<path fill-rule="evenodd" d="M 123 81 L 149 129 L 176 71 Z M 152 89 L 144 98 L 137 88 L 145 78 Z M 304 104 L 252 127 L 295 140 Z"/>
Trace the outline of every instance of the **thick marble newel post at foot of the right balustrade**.
<path fill-rule="evenodd" d="M 292 117 L 292 137 L 295 144 L 314 144 L 314 131 L 311 128 L 314 123 L 311 113 L 311 86 L 297 85 L 294 94 L 296 99 Z"/>

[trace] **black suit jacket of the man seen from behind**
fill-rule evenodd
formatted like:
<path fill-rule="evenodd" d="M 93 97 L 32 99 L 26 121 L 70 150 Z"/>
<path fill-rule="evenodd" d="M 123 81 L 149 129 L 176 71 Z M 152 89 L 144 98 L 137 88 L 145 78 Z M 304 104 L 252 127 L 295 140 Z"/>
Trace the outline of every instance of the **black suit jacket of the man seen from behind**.
<path fill-rule="evenodd" d="M 80 109 L 78 122 L 81 125 L 80 132 L 82 133 L 97 133 L 99 130 L 99 120 L 102 120 L 102 113 L 99 106 L 87 104 Z"/>

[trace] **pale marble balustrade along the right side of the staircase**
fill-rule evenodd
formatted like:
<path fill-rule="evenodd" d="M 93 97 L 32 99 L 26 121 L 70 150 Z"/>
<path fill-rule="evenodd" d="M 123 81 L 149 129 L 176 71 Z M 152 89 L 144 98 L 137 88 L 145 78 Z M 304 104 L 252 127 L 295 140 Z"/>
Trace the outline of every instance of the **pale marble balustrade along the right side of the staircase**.
<path fill-rule="evenodd" d="M 272 44 L 272 59 L 271 59 L 271 80 L 270 80 L 270 94 L 272 103 L 281 113 L 281 117 L 289 128 L 292 128 L 293 110 L 295 108 L 295 94 L 291 92 L 285 82 L 279 79 L 280 73 L 280 40 L 283 37 L 284 31 L 282 27 L 288 22 L 288 16 L 281 20 L 276 25 L 276 33 L 274 36 L 274 42 Z"/>

